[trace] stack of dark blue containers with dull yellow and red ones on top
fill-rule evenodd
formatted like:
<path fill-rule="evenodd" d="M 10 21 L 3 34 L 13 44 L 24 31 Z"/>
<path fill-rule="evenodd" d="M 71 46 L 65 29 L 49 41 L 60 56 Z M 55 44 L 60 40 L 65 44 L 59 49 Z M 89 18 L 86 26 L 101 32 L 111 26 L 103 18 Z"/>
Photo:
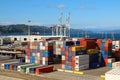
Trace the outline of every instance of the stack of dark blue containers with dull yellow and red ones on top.
<path fill-rule="evenodd" d="M 79 39 L 80 46 L 86 47 L 86 53 L 89 55 L 89 68 L 98 68 L 100 66 L 99 48 L 97 47 L 97 39 Z"/>

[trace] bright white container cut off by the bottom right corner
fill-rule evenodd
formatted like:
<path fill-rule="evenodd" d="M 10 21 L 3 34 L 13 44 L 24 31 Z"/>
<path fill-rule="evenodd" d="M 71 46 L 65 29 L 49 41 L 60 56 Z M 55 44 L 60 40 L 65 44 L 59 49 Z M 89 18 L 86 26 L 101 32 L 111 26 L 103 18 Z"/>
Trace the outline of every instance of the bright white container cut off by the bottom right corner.
<path fill-rule="evenodd" d="M 106 72 L 105 80 L 120 80 L 120 67 Z"/>

